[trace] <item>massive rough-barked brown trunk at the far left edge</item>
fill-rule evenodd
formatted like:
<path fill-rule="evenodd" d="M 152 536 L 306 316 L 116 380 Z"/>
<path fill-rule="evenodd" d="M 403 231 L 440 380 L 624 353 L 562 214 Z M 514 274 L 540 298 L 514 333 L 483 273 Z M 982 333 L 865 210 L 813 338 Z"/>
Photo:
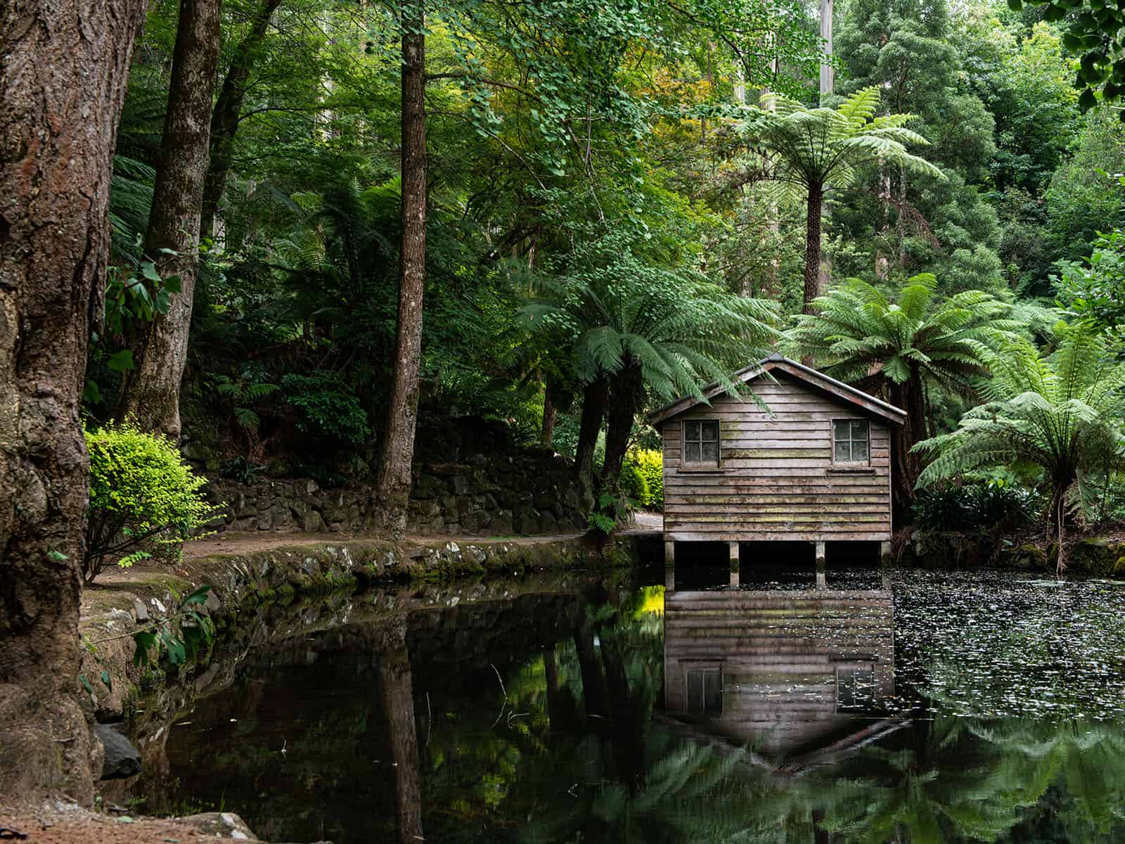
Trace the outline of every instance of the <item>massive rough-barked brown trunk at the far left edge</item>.
<path fill-rule="evenodd" d="M 79 402 L 144 14 L 141 0 L 0 6 L 0 803 L 47 790 L 90 803 L 100 774 L 78 682 Z"/>

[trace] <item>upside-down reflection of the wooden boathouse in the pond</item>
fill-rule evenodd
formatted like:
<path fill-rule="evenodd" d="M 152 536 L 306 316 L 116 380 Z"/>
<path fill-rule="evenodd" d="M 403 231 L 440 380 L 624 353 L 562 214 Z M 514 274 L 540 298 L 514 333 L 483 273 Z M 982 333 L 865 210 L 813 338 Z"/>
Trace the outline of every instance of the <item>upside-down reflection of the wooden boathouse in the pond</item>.
<path fill-rule="evenodd" d="M 889 726 L 889 590 L 665 594 L 666 711 L 792 760 L 863 744 Z"/>

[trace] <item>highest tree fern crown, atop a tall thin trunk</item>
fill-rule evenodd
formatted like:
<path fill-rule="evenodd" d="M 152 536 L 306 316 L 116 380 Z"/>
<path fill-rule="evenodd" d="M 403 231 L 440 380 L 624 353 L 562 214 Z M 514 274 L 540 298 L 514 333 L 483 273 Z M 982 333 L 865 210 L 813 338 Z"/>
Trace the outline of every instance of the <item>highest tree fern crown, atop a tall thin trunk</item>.
<path fill-rule="evenodd" d="M 752 152 L 772 160 L 771 178 L 786 192 L 810 185 L 852 187 L 857 168 L 875 161 L 944 179 L 934 164 L 907 150 L 907 144 L 929 143 L 906 127 L 914 115 L 876 116 L 879 101 L 878 86 L 836 108 L 807 108 L 770 93 L 763 107 L 748 109 L 740 133 Z"/>

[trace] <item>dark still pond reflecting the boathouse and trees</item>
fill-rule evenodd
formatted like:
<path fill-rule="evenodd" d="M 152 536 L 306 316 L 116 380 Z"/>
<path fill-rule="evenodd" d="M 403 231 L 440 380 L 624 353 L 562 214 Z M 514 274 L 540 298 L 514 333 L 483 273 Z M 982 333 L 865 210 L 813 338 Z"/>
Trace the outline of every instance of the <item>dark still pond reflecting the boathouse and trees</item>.
<path fill-rule="evenodd" d="M 336 844 L 1125 839 L 1125 584 L 748 568 L 251 649 L 144 808 Z"/>

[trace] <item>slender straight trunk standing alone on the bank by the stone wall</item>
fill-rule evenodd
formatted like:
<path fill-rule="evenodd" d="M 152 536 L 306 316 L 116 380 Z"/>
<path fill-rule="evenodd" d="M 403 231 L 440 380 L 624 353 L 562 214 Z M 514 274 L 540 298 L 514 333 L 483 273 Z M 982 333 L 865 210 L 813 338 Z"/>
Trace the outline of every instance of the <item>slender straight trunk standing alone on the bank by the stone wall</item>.
<path fill-rule="evenodd" d="M 403 240 L 398 271 L 398 326 L 390 402 L 375 484 L 378 520 L 396 537 L 406 530 L 422 362 L 426 210 L 423 8 L 421 0 L 403 7 Z"/>

